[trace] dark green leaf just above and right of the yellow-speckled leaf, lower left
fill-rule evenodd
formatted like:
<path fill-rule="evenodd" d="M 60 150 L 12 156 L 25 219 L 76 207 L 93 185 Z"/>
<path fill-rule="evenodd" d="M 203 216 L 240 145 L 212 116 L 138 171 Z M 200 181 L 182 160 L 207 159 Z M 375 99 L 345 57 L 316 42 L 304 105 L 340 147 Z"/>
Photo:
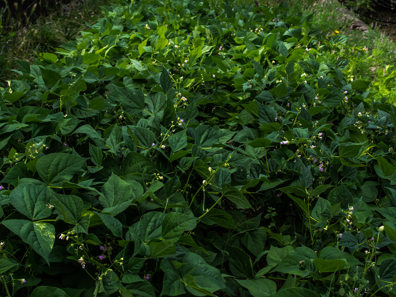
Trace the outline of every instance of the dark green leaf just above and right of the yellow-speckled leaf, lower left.
<path fill-rule="evenodd" d="M 58 211 L 59 217 L 65 222 L 77 223 L 80 220 L 84 202 L 74 195 L 60 194 L 50 191 L 51 203 Z"/>

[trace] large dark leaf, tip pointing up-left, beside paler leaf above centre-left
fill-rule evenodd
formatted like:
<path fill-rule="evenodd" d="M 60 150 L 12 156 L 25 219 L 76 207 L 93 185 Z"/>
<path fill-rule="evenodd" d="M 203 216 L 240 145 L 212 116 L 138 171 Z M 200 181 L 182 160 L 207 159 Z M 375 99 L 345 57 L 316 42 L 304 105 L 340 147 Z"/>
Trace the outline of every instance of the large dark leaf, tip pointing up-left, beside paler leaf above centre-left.
<path fill-rule="evenodd" d="M 145 108 L 145 95 L 142 91 L 130 88 L 120 88 L 114 85 L 119 98 L 121 99 L 122 109 L 130 116 L 139 116 Z"/>

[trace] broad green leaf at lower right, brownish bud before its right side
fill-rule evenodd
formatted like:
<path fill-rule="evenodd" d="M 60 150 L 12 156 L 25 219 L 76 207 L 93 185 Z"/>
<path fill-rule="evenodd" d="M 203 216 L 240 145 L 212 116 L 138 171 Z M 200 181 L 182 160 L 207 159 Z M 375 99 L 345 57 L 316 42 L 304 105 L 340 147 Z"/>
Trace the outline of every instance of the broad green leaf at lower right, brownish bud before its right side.
<path fill-rule="evenodd" d="M 309 260 L 316 258 L 316 253 L 309 247 L 297 247 L 284 257 L 274 271 L 303 275 L 305 271 L 299 269 L 300 261 L 306 261 L 308 263 Z"/>

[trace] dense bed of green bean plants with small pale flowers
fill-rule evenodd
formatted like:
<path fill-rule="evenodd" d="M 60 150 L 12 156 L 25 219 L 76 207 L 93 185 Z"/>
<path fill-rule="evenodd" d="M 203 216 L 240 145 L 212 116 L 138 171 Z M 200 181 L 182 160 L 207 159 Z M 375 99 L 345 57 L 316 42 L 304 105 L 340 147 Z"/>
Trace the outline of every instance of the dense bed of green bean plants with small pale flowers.
<path fill-rule="evenodd" d="M 2 295 L 394 295 L 395 111 L 322 60 L 348 36 L 298 3 L 102 9 L 1 92 Z"/>

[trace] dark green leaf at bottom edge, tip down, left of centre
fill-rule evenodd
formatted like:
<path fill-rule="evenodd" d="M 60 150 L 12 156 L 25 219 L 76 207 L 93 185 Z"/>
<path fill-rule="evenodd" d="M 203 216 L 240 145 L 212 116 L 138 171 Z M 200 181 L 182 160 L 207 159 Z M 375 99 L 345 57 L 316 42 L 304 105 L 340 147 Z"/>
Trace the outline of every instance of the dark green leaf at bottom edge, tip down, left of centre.
<path fill-rule="evenodd" d="M 180 275 L 171 261 L 163 259 L 161 261 L 161 270 L 164 271 L 165 275 L 160 296 L 177 296 L 186 293 Z"/>

